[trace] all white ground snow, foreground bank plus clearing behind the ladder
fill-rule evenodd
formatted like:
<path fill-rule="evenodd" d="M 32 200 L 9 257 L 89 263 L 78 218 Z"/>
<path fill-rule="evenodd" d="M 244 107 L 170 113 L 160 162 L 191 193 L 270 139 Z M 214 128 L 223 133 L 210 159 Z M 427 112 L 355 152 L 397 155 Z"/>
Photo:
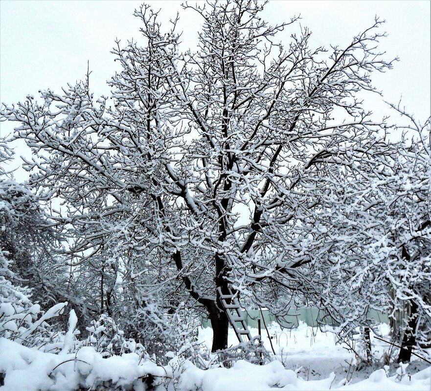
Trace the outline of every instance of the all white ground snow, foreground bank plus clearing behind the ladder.
<path fill-rule="evenodd" d="M 384 333 L 387 326 L 381 326 Z M 231 331 L 231 330 L 230 330 Z M 168 365 L 157 366 L 139 360 L 135 353 L 103 358 L 91 347 L 75 353 L 52 354 L 23 347 L 0 338 L 0 372 L 5 373 L 1 391 L 72 391 L 93 390 L 109 382 L 115 390 L 146 390 L 142 377 L 156 376 L 156 391 L 243 391 L 243 390 L 431 390 L 431 367 L 419 359 L 409 366 L 391 365 L 353 371 L 347 376 L 354 355 L 335 343 L 333 333 L 301 324 L 293 330 L 269 328 L 277 360 L 258 366 L 246 361 L 232 368 L 202 370 L 189 361 L 173 357 Z M 211 343 L 211 329 L 199 329 L 199 340 Z M 251 329 L 256 334 L 256 329 Z M 262 330 L 262 334 L 266 330 Z M 268 336 L 263 336 L 269 350 Z M 388 349 L 373 339 L 378 357 Z M 235 345 L 229 333 L 229 344 Z M 428 357 L 429 359 L 429 357 Z M 400 376 L 402 375 L 402 376 Z M 346 376 L 349 383 L 345 385 Z M 158 378 L 159 377 L 159 378 Z M 105 390 L 105 388 L 103 388 Z M 111 390 L 111 388 L 106 388 Z"/>

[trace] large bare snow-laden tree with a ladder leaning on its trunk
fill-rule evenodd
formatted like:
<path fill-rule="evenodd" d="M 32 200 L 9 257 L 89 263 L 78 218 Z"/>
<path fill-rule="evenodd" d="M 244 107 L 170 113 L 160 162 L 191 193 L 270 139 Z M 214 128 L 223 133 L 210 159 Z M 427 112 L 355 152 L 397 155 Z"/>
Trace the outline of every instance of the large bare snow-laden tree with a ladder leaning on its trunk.
<path fill-rule="evenodd" d="M 327 52 L 310 48 L 306 28 L 276 43 L 296 19 L 272 26 L 257 1 L 184 8 L 203 20 L 198 47 L 185 53 L 177 20 L 163 33 L 157 13 L 136 10 L 143 45 L 118 41 L 113 50 L 113 107 L 94 101 L 87 77 L 60 95 L 43 91 L 43 103 L 29 96 L 4 105 L 1 119 L 21 123 L 16 137 L 43 151 L 26 163 L 35 169 L 30 184 L 45 201 L 63 200 L 52 217 L 73 240 L 72 265 L 105 243 L 122 265 L 127 251 L 140 253 L 133 273 L 145 277 L 142 287 L 179 292 L 174 307 L 187 293 L 186 305 L 209 317 L 219 350 L 227 347 L 221 296 L 229 288 L 282 313 L 266 293 L 309 285 L 299 227 L 310 210 L 328 207 L 311 191 L 318 163 L 371 158 L 384 124 L 357 95 L 375 91 L 370 73 L 392 62 L 376 50 L 385 35 L 379 20 Z"/>

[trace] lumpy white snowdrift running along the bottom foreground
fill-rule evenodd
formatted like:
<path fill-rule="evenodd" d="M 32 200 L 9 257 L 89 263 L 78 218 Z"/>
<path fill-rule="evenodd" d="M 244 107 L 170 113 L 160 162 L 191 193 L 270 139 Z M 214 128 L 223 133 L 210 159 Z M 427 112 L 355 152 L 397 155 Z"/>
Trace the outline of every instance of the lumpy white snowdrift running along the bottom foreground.
<path fill-rule="evenodd" d="M 202 370 L 173 357 L 168 365 L 139 361 L 135 353 L 103 358 L 91 347 L 76 353 L 46 353 L 0 338 L 1 391 L 128 390 L 415 390 L 429 391 L 431 367 L 400 380 L 386 370 L 373 372 L 355 384 L 335 384 L 335 375 L 304 380 L 279 361 L 257 366 L 238 361 L 232 368 Z"/>

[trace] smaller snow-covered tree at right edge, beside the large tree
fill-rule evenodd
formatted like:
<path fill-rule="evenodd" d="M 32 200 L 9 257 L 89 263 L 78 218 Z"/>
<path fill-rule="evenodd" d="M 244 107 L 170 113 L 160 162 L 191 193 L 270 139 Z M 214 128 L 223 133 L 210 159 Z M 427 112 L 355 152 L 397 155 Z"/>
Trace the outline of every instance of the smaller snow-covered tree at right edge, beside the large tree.
<path fill-rule="evenodd" d="M 384 310 L 393 337 L 408 347 L 398 360 L 408 361 L 412 347 L 431 339 L 431 129 L 430 120 L 420 124 L 393 107 L 411 122 L 403 140 L 370 144 L 371 159 L 323 162 L 313 194 L 329 207 L 309 211 L 286 235 L 301 238 L 310 259 L 301 268 L 305 296 L 340 324 L 340 339 L 359 326 L 373 328 L 369 310 Z"/>

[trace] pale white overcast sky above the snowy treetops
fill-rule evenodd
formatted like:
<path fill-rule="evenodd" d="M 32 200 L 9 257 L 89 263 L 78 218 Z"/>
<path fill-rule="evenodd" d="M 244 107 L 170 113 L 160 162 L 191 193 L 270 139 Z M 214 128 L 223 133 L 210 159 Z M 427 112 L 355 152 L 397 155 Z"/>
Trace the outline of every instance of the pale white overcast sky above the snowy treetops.
<path fill-rule="evenodd" d="M 182 48 L 193 49 L 201 21 L 191 10 L 181 12 L 181 2 L 147 1 L 153 8 L 161 8 L 160 21 L 165 26 L 180 11 Z M 118 69 L 110 51 L 115 38 L 139 42 L 140 23 L 132 14 L 140 4 L 135 0 L 0 0 L 0 102 L 16 103 L 28 94 L 36 97 L 39 89 L 48 87 L 59 91 L 85 76 L 87 61 L 95 96 L 109 95 L 105 81 Z M 423 121 L 431 114 L 430 5 L 427 0 L 271 0 L 263 18 L 274 24 L 300 14 L 301 25 L 313 32 L 312 45 L 327 48 L 348 43 L 373 23 L 375 15 L 386 19 L 383 29 L 388 37 L 382 39 L 380 48 L 386 50 L 388 59 L 398 56 L 400 62 L 385 74 L 375 74 L 374 85 L 383 90 L 387 101 L 398 103 L 402 96 L 408 111 Z M 279 40 L 288 42 L 298 29 L 299 24 L 288 27 Z M 377 118 L 391 113 L 378 96 L 369 100 L 368 107 Z M 395 122 L 396 116 L 391 120 Z M 13 126 L 0 123 L 0 136 L 11 133 Z M 22 146 L 16 152 L 28 154 Z M 24 176 L 21 170 L 16 173 L 18 180 Z"/>

